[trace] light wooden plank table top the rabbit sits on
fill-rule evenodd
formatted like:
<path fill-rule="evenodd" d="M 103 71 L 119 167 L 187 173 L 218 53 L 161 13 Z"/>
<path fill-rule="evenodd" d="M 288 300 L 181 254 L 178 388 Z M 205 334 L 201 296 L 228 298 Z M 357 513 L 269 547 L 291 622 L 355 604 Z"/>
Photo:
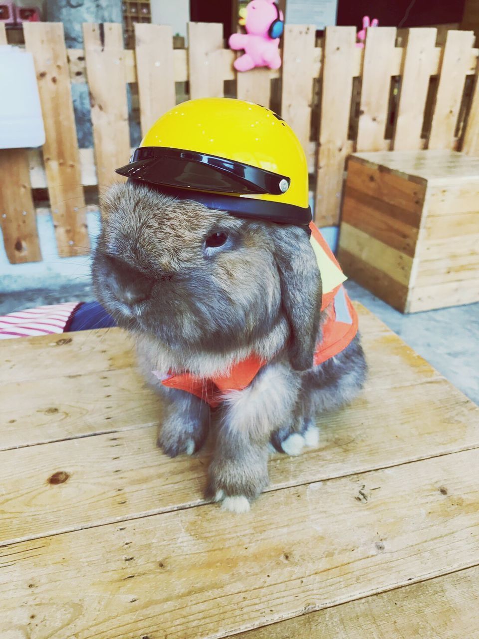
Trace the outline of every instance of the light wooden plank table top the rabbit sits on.
<path fill-rule="evenodd" d="M 479 637 L 479 409 L 358 311 L 366 389 L 243 515 L 121 330 L 0 343 L 1 638 Z"/>

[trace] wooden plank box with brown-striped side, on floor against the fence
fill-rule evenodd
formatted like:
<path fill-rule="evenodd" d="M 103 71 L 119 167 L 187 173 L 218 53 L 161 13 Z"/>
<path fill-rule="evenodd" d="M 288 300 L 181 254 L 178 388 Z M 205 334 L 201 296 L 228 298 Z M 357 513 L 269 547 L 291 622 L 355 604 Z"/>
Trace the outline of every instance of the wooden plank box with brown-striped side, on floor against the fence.
<path fill-rule="evenodd" d="M 386 151 L 349 158 L 339 259 L 402 312 L 479 301 L 479 158 Z"/>

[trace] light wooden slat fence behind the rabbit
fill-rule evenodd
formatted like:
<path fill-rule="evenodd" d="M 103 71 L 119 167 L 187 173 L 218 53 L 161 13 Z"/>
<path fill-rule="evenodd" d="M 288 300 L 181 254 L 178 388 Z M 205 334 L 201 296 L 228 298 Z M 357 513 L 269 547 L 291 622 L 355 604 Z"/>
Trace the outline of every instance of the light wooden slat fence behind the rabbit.
<path fill-rule="evenodd" d="M 61 24 L 24 27 L 47 141 L 42 150 L 0 151 L 0 167 L 6 167 L 0 221 L 12 263 L 41 259 L 31 189 L 48 189 L 59 254 L 88 250 L 84 187 L 120 180 L 114 169 L 131 151 L 127 84 L 137 85 L 142 134 L 185 99 L 177 83 L 188 82 L 186 98 L 225 95 L 230 81 L 228 95 L 279 103 L 316 178 L 319 226 L 338 223 L 345 160 L 355 150 L 448 148 L 479 155 L 478 49 L 470 31 L 448 31 L 437 46 L 435 28 L 402 30 L 398 38 L 394 27 L 377 27 L 359 49 L 354 27 L 328 27 L 315 42 L 314 27 L 287 25 L 282 68 L 238 74 L 219 24 L 190 23 L 188 49 L 173 48 L 167 26 L 137 24 L 135 50 L 124 49 L 119 24 L 84 24 L 83 33 L 84 49 L 66 49 Z M 273 95 L 278 81 L 280 93 Z M 78 148 L 76 82 L 89 86 L 94 149 Z"/>

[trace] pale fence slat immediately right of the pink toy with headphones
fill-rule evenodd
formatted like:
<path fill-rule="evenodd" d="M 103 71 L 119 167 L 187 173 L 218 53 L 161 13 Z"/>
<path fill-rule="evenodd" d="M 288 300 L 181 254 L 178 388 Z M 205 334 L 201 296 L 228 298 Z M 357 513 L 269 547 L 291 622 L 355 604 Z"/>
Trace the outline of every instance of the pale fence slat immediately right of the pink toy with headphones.
<path fill-rule="evenodd" d="M 283 40 L 281 116 L 303 149 L 309 146 L 316 27 L 286 24 Z"/>

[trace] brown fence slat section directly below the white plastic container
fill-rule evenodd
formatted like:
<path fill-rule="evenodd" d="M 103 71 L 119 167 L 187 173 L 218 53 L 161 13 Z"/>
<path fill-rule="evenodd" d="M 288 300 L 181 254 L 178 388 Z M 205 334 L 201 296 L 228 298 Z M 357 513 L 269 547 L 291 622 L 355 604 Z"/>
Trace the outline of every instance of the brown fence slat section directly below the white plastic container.
<path fill-rule="evenodd" d="M 0 226 L 8 261 L 11 264 L 40 261 L 42 252 L 26 149 L 0 149 L 0 192 Z"/>

